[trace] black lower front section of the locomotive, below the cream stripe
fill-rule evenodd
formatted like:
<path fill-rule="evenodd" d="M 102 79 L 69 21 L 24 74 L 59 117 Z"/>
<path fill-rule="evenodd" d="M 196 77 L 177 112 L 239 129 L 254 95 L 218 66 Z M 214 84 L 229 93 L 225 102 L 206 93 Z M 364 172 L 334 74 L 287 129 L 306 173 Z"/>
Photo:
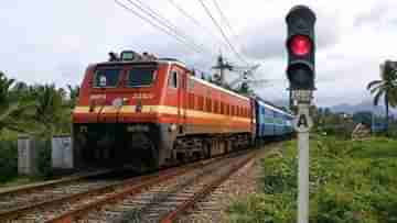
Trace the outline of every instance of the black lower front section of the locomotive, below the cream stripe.
<path fill-rule="evenodd" d="M 75 124 L 74 152 L 79 166 L 129 166 L 158 164 L 157 125 L 147 123 Z"/>

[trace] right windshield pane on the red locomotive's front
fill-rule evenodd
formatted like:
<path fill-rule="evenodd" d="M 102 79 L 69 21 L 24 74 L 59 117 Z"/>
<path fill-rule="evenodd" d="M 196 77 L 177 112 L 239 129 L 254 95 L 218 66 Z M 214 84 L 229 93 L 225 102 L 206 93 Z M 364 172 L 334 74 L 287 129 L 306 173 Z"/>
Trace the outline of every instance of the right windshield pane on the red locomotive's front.
<path fill-rule="evenodd" d="M 148 87 L 155 79 L 155 68 L 136 67 L 128 71 L 128 86 L 132 88 Z"/>

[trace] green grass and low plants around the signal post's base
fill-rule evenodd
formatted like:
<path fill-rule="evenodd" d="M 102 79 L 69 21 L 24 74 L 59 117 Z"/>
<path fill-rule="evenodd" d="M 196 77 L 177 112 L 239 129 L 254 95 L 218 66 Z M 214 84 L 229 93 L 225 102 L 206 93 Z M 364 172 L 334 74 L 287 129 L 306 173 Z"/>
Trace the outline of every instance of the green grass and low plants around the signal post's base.
<path fill-rule="evenodd" d="M 229 222 L 296 222 L 297 144 L 261 161 L 259 193 L 235 201 Z M 397 141 L 315 136 L 310 148 L 310 222 L 397 222 Z"/>

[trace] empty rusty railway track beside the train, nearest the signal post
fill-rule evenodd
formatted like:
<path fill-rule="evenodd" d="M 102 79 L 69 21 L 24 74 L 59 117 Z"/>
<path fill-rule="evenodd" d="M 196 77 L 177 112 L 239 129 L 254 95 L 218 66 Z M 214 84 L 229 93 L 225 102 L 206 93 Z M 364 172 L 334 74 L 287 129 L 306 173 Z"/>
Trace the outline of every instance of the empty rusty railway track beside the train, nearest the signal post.
<path fill-rule="evenodd" d="M 72 211 L 46 222 L 172 222 L 255 154 L 250 152 L 159 174 L 120 191 L 76 204 Z"/>

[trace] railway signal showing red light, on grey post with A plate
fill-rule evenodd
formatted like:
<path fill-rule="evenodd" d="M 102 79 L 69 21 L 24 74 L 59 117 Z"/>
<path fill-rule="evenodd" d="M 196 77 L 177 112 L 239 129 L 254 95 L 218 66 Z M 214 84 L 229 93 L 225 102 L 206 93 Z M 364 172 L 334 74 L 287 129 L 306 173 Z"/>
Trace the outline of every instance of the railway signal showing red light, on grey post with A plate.
<path fill-rule="evenodd" d="M 315 78 L 314 12 L 305 5 L 296 5 L 286 18 L 288 36 L 287 77 L 291 99 L 297 102 L 294 129 L 298 132 L 298 223 L 309 222 L 309 133 L 312 120 L 309 108 L 313 98 Z"/>

